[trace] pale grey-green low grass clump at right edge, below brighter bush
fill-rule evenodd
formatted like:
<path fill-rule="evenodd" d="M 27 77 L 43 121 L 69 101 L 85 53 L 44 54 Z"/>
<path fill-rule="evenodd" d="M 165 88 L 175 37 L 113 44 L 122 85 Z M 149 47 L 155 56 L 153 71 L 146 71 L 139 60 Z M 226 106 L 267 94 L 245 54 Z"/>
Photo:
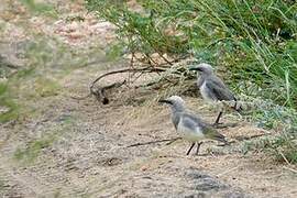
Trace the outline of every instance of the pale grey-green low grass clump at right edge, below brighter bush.
<path fill-rule="evenodd" d="M 277 132 L 274 136 L 244 143 L 243 153 L 265 152 L 278 162 L 297 163 L 297 111 L 277 106 L 273 101 L 257 101 L 248 118 L 257 127 Z"/>

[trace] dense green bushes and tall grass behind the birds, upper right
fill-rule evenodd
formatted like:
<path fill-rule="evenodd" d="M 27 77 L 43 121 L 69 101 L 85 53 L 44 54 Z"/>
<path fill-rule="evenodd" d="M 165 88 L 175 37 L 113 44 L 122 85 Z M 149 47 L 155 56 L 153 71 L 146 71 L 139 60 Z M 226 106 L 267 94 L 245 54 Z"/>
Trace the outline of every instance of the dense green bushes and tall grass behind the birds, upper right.
<path fill-rule="evenodd" d="M 297 3 L 292 0 L 87 0 L 87 8 L 118 26 L 130 53 L 194 56 L 218 66 L 239 94 L 272 103 L 248 117 L 282 131 L 262 143 L 296 163 Z M 169 65 L 168 65 L 169 66 Z M 279 128 L 280 125 L 280 128 Z M 256 146 L 255 146 L 256 147 Z M 277 155 L 278 156 L 278 155 Z M 284 160 L 284 157 L 283 157 Z"/>

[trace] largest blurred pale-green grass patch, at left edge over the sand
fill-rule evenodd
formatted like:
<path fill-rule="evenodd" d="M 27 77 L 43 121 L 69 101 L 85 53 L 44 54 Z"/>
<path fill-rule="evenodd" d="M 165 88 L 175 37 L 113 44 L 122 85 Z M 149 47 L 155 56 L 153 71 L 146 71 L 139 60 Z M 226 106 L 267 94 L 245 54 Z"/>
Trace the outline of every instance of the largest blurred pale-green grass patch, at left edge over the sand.
<path fill-rule="evenodd" d="M 63 90 L 59 79 L 102 54 L 101 50 L 96 47 L 89 51 L 80 50 L 63 44 L 55 37 L 35 35 L 34 32 L 32 34 L 34 41 L 28 41 L 23 45 L 26 65 L 13 74 L 3 73 L 7 80 L 0 82 L 0 109 L 6 111 L 0 111 L 0 123 L 28 114 L 34 117 L 32 113 L 36 110 L 36 99 L 59 95 Z"/>

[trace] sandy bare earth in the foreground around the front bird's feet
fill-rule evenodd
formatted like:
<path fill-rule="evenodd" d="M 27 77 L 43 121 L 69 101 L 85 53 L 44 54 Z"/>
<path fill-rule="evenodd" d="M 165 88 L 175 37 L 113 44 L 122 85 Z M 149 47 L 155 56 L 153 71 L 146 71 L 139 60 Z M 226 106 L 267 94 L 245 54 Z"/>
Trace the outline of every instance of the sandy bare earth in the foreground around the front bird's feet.
<path fill-rule="evenodd" d="M 37 119 L 2 127 L 3 136 L 9 135 L 1 144 L 0 178 L 4 196 L 296 196 L 296 176 L 270 158 L 263 162 L 265 156 L 260 154 L 243 155 L 239 151 L 241 141 L 223 147 L 215 142 L 205 143 L 200 156 L 186 156 L 188 143 L 184 141 L 127 147 L 175 138 L 169 111 L 156 102 L 139 107 L 121 105 L 123 101 L 119 100 L 101 106 L 92 98 L 70 99 L 75 94 L 84 94 L 82 86 L 88 85 L 95 69 L 79 72 L 79 84 L 68 84 L 63 96 L 41 101 L 44 113 Z M 77 78 L 69 75 L 63 80 Z M 199 99 L 186 99 L 191 109 L 211 122 L 213 113 Z M 230 140 L 263 133 L 249 123 L 221 132 Z M 18 147 L 53 133 L 54 143 L 43 147 L 33 163 L 15 160 Z"/>

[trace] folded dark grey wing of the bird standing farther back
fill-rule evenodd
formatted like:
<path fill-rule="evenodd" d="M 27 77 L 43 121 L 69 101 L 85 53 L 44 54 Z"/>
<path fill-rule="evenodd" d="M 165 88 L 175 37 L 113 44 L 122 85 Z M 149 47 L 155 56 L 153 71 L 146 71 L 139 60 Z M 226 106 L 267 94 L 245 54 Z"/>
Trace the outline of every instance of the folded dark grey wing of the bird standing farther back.
<path fill-rule="evenodd" d="M 206 87 L 210 91 L 210 95 L 217 98 L 217 100 L 237 100 L 223 81 L 216 76 L 206 80 Z"/>

